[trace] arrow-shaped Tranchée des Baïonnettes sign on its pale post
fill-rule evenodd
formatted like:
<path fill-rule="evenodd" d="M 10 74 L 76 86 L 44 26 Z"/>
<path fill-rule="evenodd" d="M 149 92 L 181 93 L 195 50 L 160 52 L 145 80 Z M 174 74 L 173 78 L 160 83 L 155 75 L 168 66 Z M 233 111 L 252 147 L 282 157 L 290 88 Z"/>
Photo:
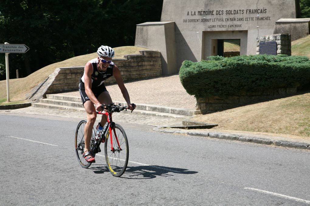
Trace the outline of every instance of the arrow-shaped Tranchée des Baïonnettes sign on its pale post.
<path fill-rule="evenodd" d="M 5 42 L 0 44 L 0 53 L 5 53 L 5 67 L 7 75 L 7 102 L 10 101 L 10 86 L 9 86 L 9 53 L 26 53 L 29 50 L 25 44 L 9 44 Z"/>

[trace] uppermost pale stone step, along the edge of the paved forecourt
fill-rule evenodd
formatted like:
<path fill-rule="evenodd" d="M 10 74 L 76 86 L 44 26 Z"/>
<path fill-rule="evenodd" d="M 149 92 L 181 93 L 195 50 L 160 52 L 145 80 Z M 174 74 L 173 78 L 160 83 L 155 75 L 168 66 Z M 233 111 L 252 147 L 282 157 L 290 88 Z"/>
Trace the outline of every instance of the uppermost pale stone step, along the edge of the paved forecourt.
<path fill-rule="evenodd" d="M 55 100 L 62 100 L 62 101 L 69 101 L 73 104 L 73 102 L 81 103 L 81 98 L 76 96 L 64 96 L 64 95 L 47 95 L 48 99 L 55 99 Z M 127 105 L 126 102 L 115 101 L 114 104 L 122 104 Z M 65 104 L 60 102 L 60 104 Z M 81 103 L 82 105 L 82 103 Z M 68 105 L 72 106 L 72 105 Z M 83 107 L 83 106 L 81 106 Z M 159 106 L 159 105 L 149 105 L 149 104 L 137 104 L 137 110 L 145 110 L 145 111 L 155 111 L 160 113 L 168 113 L 168 114 L 175 114 L 181 116 L 193 116 L 195 114 L 195 110 L 191 109 L 183 109 L 177 107 L 166 107 L 166 106 Z"/>

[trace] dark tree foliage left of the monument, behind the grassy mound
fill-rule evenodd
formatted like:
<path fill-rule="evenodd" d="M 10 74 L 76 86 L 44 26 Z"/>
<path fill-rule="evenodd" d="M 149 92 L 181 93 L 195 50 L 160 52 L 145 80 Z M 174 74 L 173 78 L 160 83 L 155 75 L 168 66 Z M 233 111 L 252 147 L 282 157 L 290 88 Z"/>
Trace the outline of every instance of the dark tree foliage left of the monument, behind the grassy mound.
<path fill-rule="evenodd" d="M 54 62 L 93 53 L 100 45 L 134 45 L 136 24 L 160 21 L 162 2 L 1 0 L 0 44 L 30 48 L 25 54 L 9 54 L 10 78 L 15 78 L 15 69 L 25 77 Z M 2 71 L 4 54 L 0 56 Z"/>

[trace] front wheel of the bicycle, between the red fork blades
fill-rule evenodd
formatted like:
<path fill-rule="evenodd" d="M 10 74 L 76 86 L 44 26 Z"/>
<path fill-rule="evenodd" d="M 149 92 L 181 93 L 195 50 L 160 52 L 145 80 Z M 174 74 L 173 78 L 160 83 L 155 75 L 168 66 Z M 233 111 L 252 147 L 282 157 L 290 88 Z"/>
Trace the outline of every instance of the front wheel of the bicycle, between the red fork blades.
<path fill-rule="evenodd" d="M 105 161 L 108 169 L 115 177 L 120 177 L 124 174 L 129 157 L 129 147 L 127 136 L 124 129 L 119 124 L 107 133 L 104 141 Z"/>

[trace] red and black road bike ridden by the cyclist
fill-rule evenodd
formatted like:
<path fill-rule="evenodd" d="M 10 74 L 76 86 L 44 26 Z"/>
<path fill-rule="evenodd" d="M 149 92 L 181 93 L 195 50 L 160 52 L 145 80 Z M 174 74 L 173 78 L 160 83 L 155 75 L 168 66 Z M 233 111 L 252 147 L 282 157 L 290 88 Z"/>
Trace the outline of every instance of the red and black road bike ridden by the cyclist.
<path fill-rule="evenodd" d="M 101 105 L 102 111 L 97 111 L 97 114 L 105 115 L 106 124 L 103 126 L 103 131 L 98 135 L 95 135 L 95 130 L 92 130 L 90 148 L 95 157 L 96 153 L 101 152 L 100 143 L 104 142 L 104 155 L 107 163 L 108 170 L 113 176 L 120 177 L 124 174 L 129 156 L 129 147 L 126 133 L 121 125 L 112 121 L 112 113 L 127 110 L 128 107 L 121 104 L 114 105 L 114 103 Z M 131 111 L 132 112 L 132 111 Z M 78 158 L 78 162 L 83 168 L 91 166 L 91 162 L 87 162 L 83 158 L 85 141 L 84 141 L 84 127 L 86 120 L 82 120 L 78 123 L 78 127 L 75 132 L 75 152 Z M 110 140 L 110 141 L 108 141 Z"/>

